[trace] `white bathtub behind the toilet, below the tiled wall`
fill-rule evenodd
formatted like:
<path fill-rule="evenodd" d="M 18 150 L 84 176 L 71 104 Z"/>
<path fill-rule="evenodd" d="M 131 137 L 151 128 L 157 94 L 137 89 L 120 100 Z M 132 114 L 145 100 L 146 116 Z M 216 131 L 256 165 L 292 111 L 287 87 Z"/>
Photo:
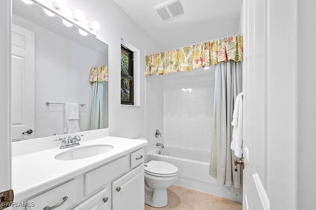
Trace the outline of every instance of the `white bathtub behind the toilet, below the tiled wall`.
<path fill-rule="evenodd" d="M 159 154 L 160 153 L 160 154 Z M 147 161 L 158 160 L 178 167 L 175 184 L 242 202 L 242 187 L 221 186 L 209 175 L 210 151 L 165 146 L 147 154 Z"/>

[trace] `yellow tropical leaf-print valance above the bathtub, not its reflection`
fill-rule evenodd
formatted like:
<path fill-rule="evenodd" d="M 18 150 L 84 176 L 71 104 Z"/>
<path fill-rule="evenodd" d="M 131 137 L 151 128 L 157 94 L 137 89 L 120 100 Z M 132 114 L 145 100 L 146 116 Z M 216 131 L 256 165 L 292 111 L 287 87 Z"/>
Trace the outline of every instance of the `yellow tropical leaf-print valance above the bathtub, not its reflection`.
<path fill-rule="evenodd" d="M 229 60 L 242 61 L 242 45 L 242 35 L 235 35 L 148 55 L 145 76 L 191 71 Z"/>

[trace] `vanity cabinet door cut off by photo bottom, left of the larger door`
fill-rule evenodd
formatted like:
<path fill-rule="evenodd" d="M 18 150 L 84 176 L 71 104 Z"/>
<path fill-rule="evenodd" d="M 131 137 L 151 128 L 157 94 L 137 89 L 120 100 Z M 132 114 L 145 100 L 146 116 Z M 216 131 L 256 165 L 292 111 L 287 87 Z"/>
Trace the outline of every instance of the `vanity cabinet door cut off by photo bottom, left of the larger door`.
<path fill-rule="evenodd" d="M 73 210 L 111 210 L 111 191 L 107 188 L 102 189 L 95 195 L 91 196 Z"/>

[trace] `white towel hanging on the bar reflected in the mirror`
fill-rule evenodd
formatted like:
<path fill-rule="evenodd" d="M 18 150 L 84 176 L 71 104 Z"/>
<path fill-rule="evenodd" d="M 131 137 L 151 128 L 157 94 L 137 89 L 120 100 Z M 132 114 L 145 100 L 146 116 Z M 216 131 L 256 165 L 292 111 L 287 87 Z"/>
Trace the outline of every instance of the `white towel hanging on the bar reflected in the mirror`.
<path fill-rule="evenodd" d="M 79 132 L 79 104 L 65 104 L 65 133 Z"/>

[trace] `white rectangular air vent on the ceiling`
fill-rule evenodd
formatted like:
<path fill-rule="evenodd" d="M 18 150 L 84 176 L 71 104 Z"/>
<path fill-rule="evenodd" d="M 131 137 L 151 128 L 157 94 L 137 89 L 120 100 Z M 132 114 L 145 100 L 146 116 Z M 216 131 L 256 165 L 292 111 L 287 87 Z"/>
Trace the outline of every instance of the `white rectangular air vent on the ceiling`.
<path fill-rule="evenodd" d="M 155 7 L 162 20 L 171 20 L 184 14 L 179 0 L 169 0 Z"/>

